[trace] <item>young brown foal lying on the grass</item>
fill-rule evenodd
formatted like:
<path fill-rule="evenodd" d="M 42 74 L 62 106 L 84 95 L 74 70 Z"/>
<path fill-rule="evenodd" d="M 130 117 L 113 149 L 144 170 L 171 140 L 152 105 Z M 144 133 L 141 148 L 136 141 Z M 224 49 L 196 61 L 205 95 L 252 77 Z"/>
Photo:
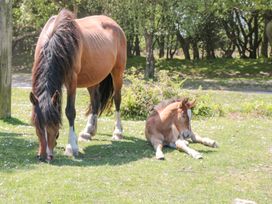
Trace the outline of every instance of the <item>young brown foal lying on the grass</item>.
<path fill-rule="evenodd" d="M 209 147 L 218 147 L 217 143 L 209 138 L 202 138 L 192 132 L 191 108 L 194 102 L 188 98 L 167 100 L 159 103 L 146 120 L 145 136 L 151 142 L 157 159 L 164 159 L 163 146 L 169 146 L 183 150 L 195 159 L 202 155 L 188 147 L 188 139 Z"/>

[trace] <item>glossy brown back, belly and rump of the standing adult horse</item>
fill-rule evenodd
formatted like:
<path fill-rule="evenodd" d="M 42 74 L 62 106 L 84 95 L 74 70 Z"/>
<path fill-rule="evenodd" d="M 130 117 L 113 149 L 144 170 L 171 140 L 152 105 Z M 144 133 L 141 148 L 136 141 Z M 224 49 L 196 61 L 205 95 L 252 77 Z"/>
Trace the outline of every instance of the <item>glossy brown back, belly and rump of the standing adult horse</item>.
<path fill-rule="evenodd" d="M 121 27 L 103 15 L 77 19 L 83 35 L 78 86 L 89 87 L 103 80 L 114 67 L 126 64 L 126 37 Z M 94 74 L 95 73 L 95 74 Z"/>

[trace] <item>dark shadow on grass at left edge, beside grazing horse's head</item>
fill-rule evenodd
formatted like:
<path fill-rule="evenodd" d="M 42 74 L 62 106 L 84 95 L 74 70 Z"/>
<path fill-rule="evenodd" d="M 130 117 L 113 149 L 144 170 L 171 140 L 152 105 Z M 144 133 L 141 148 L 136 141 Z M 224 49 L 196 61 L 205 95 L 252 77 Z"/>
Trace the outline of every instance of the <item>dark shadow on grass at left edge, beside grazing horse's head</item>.
<path fill-rule="evenodd" d="M 33 168 L 38 144 L 26 140 L 23 134 L 0 132 L 0 171 Z"/>

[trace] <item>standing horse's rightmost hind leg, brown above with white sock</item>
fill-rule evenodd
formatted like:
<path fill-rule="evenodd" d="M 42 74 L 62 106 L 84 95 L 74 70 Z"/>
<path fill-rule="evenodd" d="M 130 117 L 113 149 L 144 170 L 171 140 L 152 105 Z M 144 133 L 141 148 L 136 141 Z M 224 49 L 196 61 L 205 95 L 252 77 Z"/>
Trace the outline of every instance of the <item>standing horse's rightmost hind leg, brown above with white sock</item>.
<path fill-rule="evenodd" d="M 112 72 L 113 86 L 114 86 L 114 104 L 115 104 L 115 129 L 112 134 L 113 140 L 120 140 L 123 138 L 123 128 L 121 124 L 120 105 L 121 105 L 121 88 L 123 85 L 123 74 L 118 72 L 118 69 Z"/>

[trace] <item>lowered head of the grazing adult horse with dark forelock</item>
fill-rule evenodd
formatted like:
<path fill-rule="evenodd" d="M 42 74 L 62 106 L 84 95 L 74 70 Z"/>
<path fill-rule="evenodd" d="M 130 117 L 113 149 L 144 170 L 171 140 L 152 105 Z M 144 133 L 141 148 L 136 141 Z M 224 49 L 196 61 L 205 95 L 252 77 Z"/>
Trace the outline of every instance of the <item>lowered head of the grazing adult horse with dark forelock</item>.
<path fill-rule="evenodd" d="M 39 99 L 30 93 L 30 101 L 33 105 L 32 122 L 36 128 L 36 134 L 39 138 L 38 158 L 40 160 L 53 159 L 53 149 L 56 146 L 56 139 L 59 136 L 60 122 L 55 119 L 61 111 L 61 95 L 56 91 L 49 99 L 41 97 Z M 48 114 L 48 112 L 51 112 Z M 56 115 L 56 116 L 54 116 Z"/>

